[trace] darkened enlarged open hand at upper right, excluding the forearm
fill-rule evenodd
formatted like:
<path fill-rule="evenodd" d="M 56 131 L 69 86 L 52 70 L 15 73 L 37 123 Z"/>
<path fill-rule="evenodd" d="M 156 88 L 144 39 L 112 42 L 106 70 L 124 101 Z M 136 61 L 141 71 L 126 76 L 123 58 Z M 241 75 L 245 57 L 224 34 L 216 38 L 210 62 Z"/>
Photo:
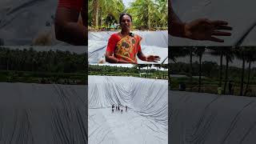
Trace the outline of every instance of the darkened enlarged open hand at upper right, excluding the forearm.
<path fill-rule="evenodd" d="M 184 26 L 184 37 L 194 40 L 208 40 L 213 42 L 224 42 L 223 39 L 214 36 L 230 36 L 229 32 L 222 30 L 232 30 L 225 21 L 210 21 L 206 18 L 199 18 Z"/>

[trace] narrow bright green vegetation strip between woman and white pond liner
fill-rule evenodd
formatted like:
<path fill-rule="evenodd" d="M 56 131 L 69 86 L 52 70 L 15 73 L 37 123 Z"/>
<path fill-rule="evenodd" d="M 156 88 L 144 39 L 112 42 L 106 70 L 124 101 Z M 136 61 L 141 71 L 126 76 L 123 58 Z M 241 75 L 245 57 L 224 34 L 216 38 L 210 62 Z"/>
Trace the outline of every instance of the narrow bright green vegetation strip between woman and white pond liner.
<path fill-rule="evenodd" d="M 168 65 L 134 65 L 132 67 L 89 65 L 89 75 L 133 76 L 142 78 L 168 79 Z M 146 68 L 146 69 L 144 69 Z M 164 70 L 160 70 L 162 68 Z"/>

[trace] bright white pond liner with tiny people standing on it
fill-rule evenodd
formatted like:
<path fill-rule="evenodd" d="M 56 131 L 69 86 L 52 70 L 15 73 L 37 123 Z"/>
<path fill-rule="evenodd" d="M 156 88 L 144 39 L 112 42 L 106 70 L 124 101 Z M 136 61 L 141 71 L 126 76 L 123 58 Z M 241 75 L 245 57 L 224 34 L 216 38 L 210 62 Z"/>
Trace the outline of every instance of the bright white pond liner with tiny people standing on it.
<path fill-rule="evenodd" d="M 88 82 L 89 143 L 168 143 L 166 80 L 89 76 Z M 113 104 L 123 112 L 112 112 Z"/>

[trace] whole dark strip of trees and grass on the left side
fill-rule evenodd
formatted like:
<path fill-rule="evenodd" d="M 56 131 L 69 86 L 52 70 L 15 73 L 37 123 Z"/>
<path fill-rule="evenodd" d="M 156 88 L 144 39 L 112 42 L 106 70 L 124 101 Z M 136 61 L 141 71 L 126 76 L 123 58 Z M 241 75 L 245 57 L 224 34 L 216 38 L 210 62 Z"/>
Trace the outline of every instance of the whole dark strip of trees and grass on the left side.
<path fill-rule="evenodd" d="M 86 54 L 0 47 L 0 82 L 87 83 Z"/>

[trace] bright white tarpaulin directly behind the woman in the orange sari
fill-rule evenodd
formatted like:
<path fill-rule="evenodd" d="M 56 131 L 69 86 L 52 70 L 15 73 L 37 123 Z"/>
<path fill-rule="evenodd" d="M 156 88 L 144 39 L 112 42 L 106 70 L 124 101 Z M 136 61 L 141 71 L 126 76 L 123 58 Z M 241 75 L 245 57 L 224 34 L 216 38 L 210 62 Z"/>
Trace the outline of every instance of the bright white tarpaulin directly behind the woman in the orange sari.
<path fill-rule="evenodd" d="M 116 31 L 89 32 L 88 34 L 88 54 L 89 63 L 98 63 L 105 61 L 107 42 L 111 34 Z M 135 31 L 142 37 L 142 53 L 145 55 L 158 55 L 160 62 L 144 62 L 138 59 L 138 63 L 162 63 L 168 62 L 168 34 L 164 31 Z"/>

